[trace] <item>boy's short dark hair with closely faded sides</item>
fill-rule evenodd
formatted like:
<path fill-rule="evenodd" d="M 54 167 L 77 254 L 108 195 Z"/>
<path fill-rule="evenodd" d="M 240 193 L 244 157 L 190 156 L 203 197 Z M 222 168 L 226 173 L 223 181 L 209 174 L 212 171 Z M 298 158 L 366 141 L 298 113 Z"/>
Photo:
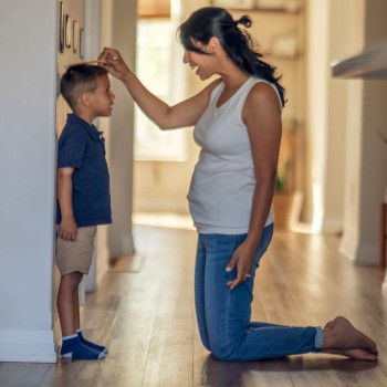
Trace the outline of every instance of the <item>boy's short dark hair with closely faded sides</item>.
<path fill-rule="evenodd" d="M 61 94 L 70 107 L 74 109 L 80 95 L 85 92 L 94 92 L 97 87 L 97 79 L 106 74 L 105 69 L 96 65 L 76 64 L 70 66 L 61 77 Z"/>

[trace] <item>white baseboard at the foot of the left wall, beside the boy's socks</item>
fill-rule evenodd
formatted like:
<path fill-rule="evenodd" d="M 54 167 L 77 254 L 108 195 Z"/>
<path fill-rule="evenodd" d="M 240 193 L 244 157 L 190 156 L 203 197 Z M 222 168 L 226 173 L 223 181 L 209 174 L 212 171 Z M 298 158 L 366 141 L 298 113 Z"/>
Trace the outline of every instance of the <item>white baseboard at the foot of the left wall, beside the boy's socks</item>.
<path fill-rule="evenodd" d="M 0 330 L 0 362 L 56 363 L 53 331 Z"/>

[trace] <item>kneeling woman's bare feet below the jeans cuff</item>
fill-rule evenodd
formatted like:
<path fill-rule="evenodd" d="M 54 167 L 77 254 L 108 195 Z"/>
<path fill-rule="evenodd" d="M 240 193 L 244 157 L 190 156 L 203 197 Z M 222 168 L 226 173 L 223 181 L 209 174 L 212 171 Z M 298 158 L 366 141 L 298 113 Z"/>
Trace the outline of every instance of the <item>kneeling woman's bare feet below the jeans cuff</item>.
<path fill-rule="evenodd" d="M 370 362 L 378 355 L 376 343 L 344 317 L 336 317 L 324 326 L 322 352 Z"/>

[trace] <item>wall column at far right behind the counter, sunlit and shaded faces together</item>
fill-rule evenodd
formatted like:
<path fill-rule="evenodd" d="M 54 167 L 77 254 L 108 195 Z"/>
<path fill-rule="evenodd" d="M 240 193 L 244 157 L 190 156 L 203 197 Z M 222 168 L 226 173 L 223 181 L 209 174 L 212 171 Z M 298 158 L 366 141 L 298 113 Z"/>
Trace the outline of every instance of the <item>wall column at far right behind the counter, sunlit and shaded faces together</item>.
<path fill-rule="evenodd" d="M 343 48 L 345 50 L 351 48 L 352 51 L 344 57 L 358 54 L 387 40 L 385 1 L 357 0 L 356 4 L 351 1 L 351 6 L 348 12 L 352 13 L 352 18 L 347 24 L 351 39 Z M 344 236 L 341 249 L 357 264 L 377 264 L 379 208 L 384 187 L 387 185 L 386 144 L 378 133 L 386 133 L 387 82 L 383 80 L 336 82 L 345 83 L 348 87 Z"/>

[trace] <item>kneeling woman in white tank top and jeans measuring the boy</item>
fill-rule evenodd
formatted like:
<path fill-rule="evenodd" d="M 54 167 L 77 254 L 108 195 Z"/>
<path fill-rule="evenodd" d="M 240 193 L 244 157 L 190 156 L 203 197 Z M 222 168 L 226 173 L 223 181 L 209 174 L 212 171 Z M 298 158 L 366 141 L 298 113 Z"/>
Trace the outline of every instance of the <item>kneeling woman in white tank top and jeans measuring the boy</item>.
<path fill-rule="evenodd" d="M 104 49 L 103 66 L 161 129 L 195 125 L 201 147 L 189 194 L 198 230 L 196 312 L 207 349 L 222 360 L 258 360 L 327 352 L 375 360 L 376 344 L 344 317 L 325 330 L 250 322 L 255 270 L 273 233 L 272 197 L 284 90 L 242 24 L 221 8 L 202 8 L 179 28 L 184 62 L 201 80 L 197 95 L 168 106 Z"/>

